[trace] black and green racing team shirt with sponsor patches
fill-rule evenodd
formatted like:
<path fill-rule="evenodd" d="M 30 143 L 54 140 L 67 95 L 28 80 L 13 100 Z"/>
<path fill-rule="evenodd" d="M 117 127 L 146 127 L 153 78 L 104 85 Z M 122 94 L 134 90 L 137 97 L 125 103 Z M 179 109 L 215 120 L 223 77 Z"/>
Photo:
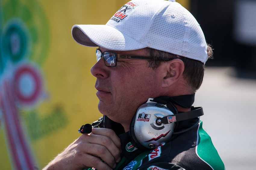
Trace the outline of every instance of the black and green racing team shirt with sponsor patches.
<path fill-rule="evenodd" d="M 179 129 L 184 128 L 184 124 L 180 125 Z M 225 170 L 211 137 L 202 128 L 202 121 L 154 150 L 138 152 L 129 141 L 121 139 L 121 143 L 126 150 L 114 170 Z M 130 154 L 133 151 L 135 154 Z M 125 157 L 128 152 L 129 157 Z"/>

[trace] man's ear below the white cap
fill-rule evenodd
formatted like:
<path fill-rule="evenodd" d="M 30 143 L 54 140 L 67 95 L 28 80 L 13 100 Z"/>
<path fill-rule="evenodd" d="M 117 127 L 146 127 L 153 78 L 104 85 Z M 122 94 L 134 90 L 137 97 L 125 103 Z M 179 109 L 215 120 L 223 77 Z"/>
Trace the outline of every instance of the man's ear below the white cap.
<path fill-rule="evenodd" d="M 178 58 L 167 61 L 164 64 L 165 73 L 163 76 L 162 87 L 169 87 L 182 77 L 185 67 L 183 61 Z"/>

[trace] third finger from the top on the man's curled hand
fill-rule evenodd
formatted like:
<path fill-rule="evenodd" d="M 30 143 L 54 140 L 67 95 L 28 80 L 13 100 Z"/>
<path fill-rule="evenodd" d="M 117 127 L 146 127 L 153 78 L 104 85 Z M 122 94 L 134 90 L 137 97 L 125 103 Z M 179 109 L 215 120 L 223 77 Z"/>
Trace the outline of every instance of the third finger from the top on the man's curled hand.
<path fill-rule="evenodd" d="M 115 159 L 105 146 L 91 143 L 82 143 L 78 146 L 79 151 L 86 151 L 86 154 L 100 157 L 111 168 L 115 166 Z M 96 161 L 96 160 L 95 160 Z M 96 165 L 96 164 L 92 164 Z"/>

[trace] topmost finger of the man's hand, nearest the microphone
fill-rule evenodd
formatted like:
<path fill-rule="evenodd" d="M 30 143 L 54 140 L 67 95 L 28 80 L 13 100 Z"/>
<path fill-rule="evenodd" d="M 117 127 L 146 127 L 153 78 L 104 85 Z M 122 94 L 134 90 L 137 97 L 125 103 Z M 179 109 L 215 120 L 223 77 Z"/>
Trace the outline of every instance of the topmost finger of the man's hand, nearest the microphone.
<path fill-rule="evenodd" d="M 106 128 L 92 128 L 92 133 L 95 135 L 108 136 L 117 148 L 121 149 L 121 142 L 114 130 Z"/>

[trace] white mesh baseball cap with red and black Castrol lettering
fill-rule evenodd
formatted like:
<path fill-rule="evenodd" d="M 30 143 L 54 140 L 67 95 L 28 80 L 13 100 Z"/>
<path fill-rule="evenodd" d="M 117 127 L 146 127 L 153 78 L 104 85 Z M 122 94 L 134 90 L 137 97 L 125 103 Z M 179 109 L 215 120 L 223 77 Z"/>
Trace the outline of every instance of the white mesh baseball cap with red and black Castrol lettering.
<path fill-rule="evenodd" d="M 132 0 L 106 25 L 74 25 L 71 32 L 83 46 L 116 51 L 150 47 L 203 63 L 208 59 L 200 25 L 175 0 Z"/>

